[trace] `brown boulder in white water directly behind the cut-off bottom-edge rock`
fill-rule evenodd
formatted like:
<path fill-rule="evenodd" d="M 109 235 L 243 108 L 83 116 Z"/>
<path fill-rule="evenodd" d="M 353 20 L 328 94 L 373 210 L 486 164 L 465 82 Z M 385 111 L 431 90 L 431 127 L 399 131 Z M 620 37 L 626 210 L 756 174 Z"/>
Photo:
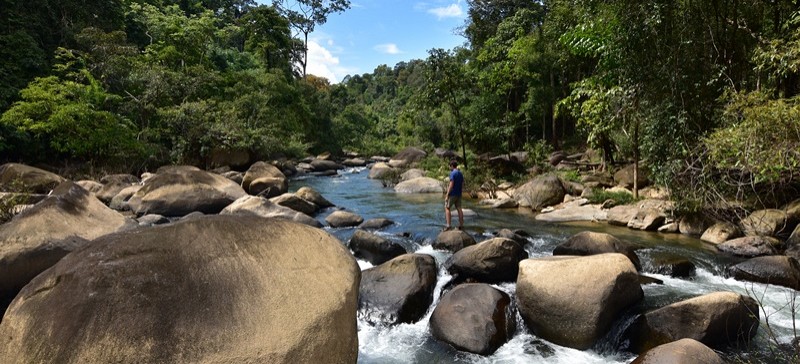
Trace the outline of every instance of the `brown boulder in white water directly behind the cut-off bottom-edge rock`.
<path fill-rule="evenodd" d="M 750 297 L 713 292 L 639 315 L 626 335 L 634 352 L 684 338 L 721 347 L 755 336 L 758 311 Z"/>

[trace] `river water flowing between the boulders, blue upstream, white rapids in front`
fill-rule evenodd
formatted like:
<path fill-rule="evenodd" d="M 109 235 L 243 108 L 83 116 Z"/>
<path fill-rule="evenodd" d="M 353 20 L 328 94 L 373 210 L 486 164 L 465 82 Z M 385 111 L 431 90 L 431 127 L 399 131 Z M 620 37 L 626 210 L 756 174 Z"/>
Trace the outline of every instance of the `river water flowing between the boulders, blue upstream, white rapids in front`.
<path fill-rule="evenodd" d="M 740 260 L 718 254 L 713 246 L 699 239 L 679 234 L 634 231 L 605 223 L 541 223 L 534 221 L 533 215 L 521 210 L 495 210 L 466 200 L 464 207 L 475 211 L 476 216 L 465 218 L 465 231 L 478 242 L 490 238 L 493 232 L 502 228 L 521 229 L 530 235 L 525 250 L 530 257 L 541 257 L 552 255 L 558 244 L 578 232 L 605 232 L 642 245 L 644 249 L 638 250 L 637 254 L 645 274 L 663 280 L 664 284 L 643 286 L 643 302 L 624 314 L 605 338 L 586 351 L 561 347 L 537 338 L 525 328 L 517 314 L 518 328 L 513 339 L 491 356 L 459 352 L 433 339 L 428 330 L 433 307 L 438 302 L 442 287 L 451 278 L 442 268 L 450 253 L 431 248 L 431 243 L 444 225 L 442 196 L 396 194 L 392 189 L 384 188 L 381 182 L 368 179 L 367 175 L 367 170 L 356 168 L 340 171 L 335 177 L 301 177 L 290 183 L 292 191 L 303 186 L 312 187 L 336 204 L 337 208 L 357 213 L 364 219 L 391 219 L 395 224 L 380 230 L 379 235 L 402 244 L 409 252 L 432 255 L 439 266 L 434 302 L 421 321 L 384 327 L 359 320 L 359 363 L 627 363 L 635 355 L 619 349 L 624 346 L 621 333 L 636 313 L 715 291 L 749 294 L 762 304 L 763 312 L 760 316 L 764 325 L 759 327 L 754 341 L 762 350 L 774 342 L 767 335 L 765 316 L 768 318 L 768 327 L 780 343 L 787 343 L 794 338 L 794 317 L 800 312 L 797 306 L 791 306 L 791 299 L 796 297 L 797 292 L 788 288 L 726 278 L 725 268 Z M 317 218 L 324 223 L 325 216 L 332 211 L 323 211 Z M 457 218 L 454 217 L 454 222 L 456 221 Z M 347 242 L 354 231 L 353 228 L 326 229 L 343 242 Z M 695 276 L 678 279 L 646 273 L 651 257 L 665 253 L 688 258 L 697 267 Z M 364 261 L 358 263 L 362 270 L 372 266 Z M 509 293 L 513 299 L 516 288 L 514 284 L 495 287 Z"/>

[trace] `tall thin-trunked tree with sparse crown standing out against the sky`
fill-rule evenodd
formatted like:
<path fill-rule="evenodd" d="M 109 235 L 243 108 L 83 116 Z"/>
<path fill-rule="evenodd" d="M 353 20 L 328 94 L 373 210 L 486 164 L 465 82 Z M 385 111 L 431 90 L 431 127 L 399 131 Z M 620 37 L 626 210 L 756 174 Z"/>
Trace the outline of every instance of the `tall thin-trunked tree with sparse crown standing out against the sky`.
<path fill-rule="evenodd" d="M 350 8 L 350 0 L 273 0 L 277 8 L 303 36 L 303 57 L 299 59 L 303 78 L 308 67 L 308 35 L 317 25 L 325 24 L 328 15 Z"/>

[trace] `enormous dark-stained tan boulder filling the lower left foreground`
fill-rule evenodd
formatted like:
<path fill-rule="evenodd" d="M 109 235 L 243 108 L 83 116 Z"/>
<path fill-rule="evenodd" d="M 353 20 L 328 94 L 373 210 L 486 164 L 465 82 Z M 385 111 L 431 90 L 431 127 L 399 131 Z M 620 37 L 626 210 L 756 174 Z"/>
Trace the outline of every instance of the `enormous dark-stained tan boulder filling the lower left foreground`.
<path fill-rule="evenodd" d="M 109 235 L 20 292 L 0 360 L 355 363 L 359 278 L 335 237 L 283 220 L 208 216 Z"/>

